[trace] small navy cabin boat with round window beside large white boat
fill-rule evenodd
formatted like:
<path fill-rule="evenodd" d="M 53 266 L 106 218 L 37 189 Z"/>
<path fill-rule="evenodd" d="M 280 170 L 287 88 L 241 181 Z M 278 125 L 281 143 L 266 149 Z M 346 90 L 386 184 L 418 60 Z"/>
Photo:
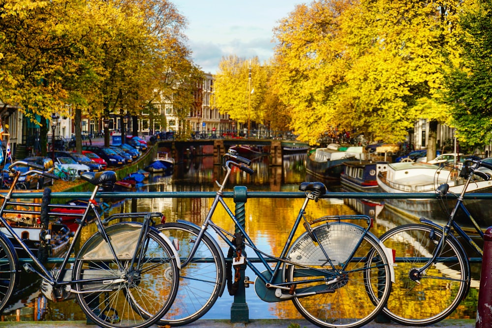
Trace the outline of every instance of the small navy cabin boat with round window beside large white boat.
<path fill-rule="evenodd" d="M 376 162 L 347 161 L 343 162 L 343 172 L 340 174 L 340 184 L 355 192 L 379 191 L 376 180 Z"/>

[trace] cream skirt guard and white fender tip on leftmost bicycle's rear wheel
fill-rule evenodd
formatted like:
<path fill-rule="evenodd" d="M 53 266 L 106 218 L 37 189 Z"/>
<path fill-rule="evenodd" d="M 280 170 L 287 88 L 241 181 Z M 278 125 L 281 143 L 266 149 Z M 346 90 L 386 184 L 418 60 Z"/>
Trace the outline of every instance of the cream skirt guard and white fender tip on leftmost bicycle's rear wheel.
<path fill-rule="evenodd" d="M 121 222 L 109 227 L 106 227 L 106 233 L 111 238 L 111 242 L 113 248 L 115 249 L 116 255 L 119 259 L 131 259 L 133 257 L 133 253 L 135 251 L 136 245 L 131 240 L 137 240 L 140 234 L 140 230 L 142 229 L 142 223 L 139 222 Z M 173 250 L 173 255 L 176 259 L 179 259 L 178 252 L 171 244 L 169 238 L 160 233 L 155 228 L 152 228 L 160 237 L 164 240 L 166 244 Z M 109 246 L 107 245 L 104 238 L 101 236 L 99 232 L 94 233 L 81 247 L 79 253 L 77 254 L 77 258 L 81 258 L 83 260 L 90 259 L 105 259 L 113 260 L 113 254 Z M 181 262 L 177 260 L 178 267 L 181 269 Z"/>

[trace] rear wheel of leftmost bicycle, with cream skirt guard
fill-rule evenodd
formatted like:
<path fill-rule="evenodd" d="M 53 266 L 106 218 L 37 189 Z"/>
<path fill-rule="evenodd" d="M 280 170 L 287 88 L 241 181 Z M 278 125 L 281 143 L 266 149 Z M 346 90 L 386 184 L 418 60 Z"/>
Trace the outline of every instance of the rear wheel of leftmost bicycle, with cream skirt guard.
<path fill-rule="evenodd" d="M 106 228 L 117 260 L 99 232 L 86 241 L 75 260 L 74 279 L 104 278 L 104 282 L 81 281 L 75 284 L 76 289 L 84 293 L 76 295 L 82 310 L 101 327 L 152 326 L 167 312 L 176 297 L 178 259 L 172 246 L 158 231 L 149 230 L 144 242 L 139 244 L 145 247 L 141 265 L 134 272 L 128 268 L 141 226 L 123 222 Z"/>

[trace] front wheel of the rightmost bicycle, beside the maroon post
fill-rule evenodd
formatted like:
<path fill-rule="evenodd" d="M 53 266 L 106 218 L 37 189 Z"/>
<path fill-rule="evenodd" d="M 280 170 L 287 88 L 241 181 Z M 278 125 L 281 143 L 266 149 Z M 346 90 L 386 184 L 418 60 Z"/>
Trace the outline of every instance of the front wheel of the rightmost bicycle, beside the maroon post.
<path fill-rule="evenodd" d="M 431 239 L 429 234 L 435 235 Z M 408 326 L 428 326 L 449 316 L 468 293 L 470 265 L 456 237 L 446 244 L 420 284 L 410 279 L 410 270 L 424 265 L 418 257 L 431 257 L 442 230 L 429 225 L 407 224 L 388 230 L 380 240 L 405 258 L 395 266 L 393 292 L 383 312 L 395 322 Z M 456 258 L 456 260 L 455 260 Z"/>

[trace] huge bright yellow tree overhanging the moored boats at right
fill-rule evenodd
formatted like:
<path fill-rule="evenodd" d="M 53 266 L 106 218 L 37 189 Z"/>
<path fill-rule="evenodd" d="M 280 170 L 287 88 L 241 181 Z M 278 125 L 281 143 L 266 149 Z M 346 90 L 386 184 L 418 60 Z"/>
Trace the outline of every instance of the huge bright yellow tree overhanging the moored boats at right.
<path fill-rule="evenodd" d="M 402 141 L 417 118 L 446 122 L 443 66 L 453 2 L 335 1 L 298 5 L 275 29 L 280 99 L 315 143 L 343 129 Z"/>

